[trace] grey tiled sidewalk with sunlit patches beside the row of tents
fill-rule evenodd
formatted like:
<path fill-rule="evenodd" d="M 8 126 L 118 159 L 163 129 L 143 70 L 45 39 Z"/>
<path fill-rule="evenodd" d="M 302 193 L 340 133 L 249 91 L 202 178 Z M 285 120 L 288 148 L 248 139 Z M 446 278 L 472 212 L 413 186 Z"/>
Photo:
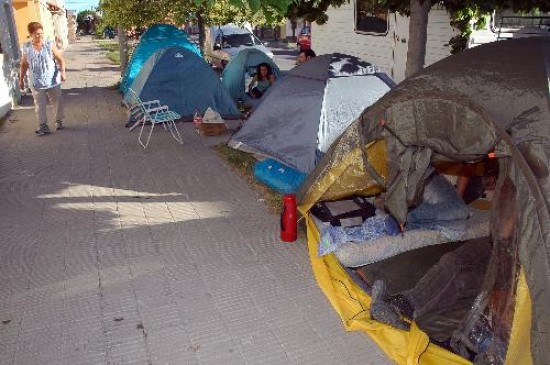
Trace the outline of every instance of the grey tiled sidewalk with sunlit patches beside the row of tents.
<path fill-rule="evenodd" d="M 118 67 L 65 56 L 67 128 L 37 137 L 31 96 L 0 128 L 0 364 L 390 363 L 191 123 L 143 150 Z"/>

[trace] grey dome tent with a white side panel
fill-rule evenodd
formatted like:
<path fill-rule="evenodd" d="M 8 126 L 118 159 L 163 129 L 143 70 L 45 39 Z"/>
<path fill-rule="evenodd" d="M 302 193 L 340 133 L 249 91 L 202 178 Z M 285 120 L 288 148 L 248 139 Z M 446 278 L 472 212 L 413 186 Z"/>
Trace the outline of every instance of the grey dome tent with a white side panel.
<path fill-rule="evenodd" d="M 361 111 L 394 85 L 357 57 L 315 57 L 268 90 L 229 145 L 308 173 Z"/>

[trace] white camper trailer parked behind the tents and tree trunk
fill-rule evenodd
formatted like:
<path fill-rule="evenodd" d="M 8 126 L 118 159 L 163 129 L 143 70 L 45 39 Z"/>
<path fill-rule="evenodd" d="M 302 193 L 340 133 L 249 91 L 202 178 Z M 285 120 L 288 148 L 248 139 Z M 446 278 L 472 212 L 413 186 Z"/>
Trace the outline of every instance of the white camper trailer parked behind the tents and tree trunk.
<path fill-rule="evenodd" d="M 368 8 L 368 2 L 353 0 L 327 11 L 329 20 L 312 24 L 311 47 L 317 54 L 341 52 L 381 67 L 396 82 L 405 78 L 409 45 L 409 18 L 398 13 Z M 449 41 L 459 34 L 450 25 L 447 10 L 434 6 L 428 17 L 425 65 L 451 54 Z M 512 11 L 495 12 L 484 29 L 474 30 L 468 47 L 500 39 L 550 35 L 548 14 L 529 16 Z"/>

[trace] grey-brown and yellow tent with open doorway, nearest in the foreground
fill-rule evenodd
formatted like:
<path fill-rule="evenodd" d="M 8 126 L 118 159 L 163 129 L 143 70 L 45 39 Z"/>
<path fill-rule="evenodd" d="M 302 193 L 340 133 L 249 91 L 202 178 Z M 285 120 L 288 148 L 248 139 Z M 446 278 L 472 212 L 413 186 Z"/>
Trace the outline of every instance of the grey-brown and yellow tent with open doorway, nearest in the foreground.
<path fill-rule="evenodd" d="M 488 154 L 498 158 L 493 253 L 483 289 L 464 317 L 461 331 L 466 332 L 453 334 L 454 349 L 464 344 L 471 350 L 472 326 L 488 315 L 494 339 L 477 348 L 489 356 L 483 363 L 550 363 L 549 78 L 550 37 L 495 42 L 442 60 L 367 108 L 309 175 L 300 194 L 299 208 L 307 215 L 317 201 L 379 189 L 385 192 L 386 209 L 406 222 L 407 211 L 419 202 L 430 166 L 462 166 Z M 314 237 L 310 225 L 308 238 Z M 350 297 L 349 288 L 340 285 L 341 268 L 331 268 L 328 259 L 320 261 L 312 256 L 318 282 L 338 280 L 337 285 L 322 287 L 346 326 L 360 328 L 358 322 L 366 321 L 338 304 Z M 414 270 L 415 263 L 409 265 Z M 362 303 L 360 311 L 369 304 L 370 300 Z M 373 328 L 368 325 L 363 327 L 367 332 Z M 444 360 L 446 354 L 437 346 L 414 349 L 409 343 L 403 356 L 395 344 L 406 343 L 412 332 L 370 332 L 399 364 L 430 356 L 435 356 L 427 361 L 430 364 L 455 363 Z M 496 356 L 495 362 L 489 361 L 491 356 Z"/>

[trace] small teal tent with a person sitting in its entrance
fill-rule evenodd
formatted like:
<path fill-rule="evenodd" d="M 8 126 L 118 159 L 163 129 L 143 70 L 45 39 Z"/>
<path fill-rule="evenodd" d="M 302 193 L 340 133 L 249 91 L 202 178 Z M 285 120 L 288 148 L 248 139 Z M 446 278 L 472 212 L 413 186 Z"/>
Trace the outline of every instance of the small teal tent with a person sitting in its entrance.
<path fill-rule="evenodd" d="M 243 49 L 235 58 L 229 62 L 222 73 L 222 85 L 229 91 L 233 100 L 245 100 L 246 87 L 245 80 L 252 73 L 256 72 L 256 66 L 260 63 L 267 63 L 273 70 L 273 75 L 280 80 L 283 74 L 275 62 L 268 55 L 255 48 Z"/>

